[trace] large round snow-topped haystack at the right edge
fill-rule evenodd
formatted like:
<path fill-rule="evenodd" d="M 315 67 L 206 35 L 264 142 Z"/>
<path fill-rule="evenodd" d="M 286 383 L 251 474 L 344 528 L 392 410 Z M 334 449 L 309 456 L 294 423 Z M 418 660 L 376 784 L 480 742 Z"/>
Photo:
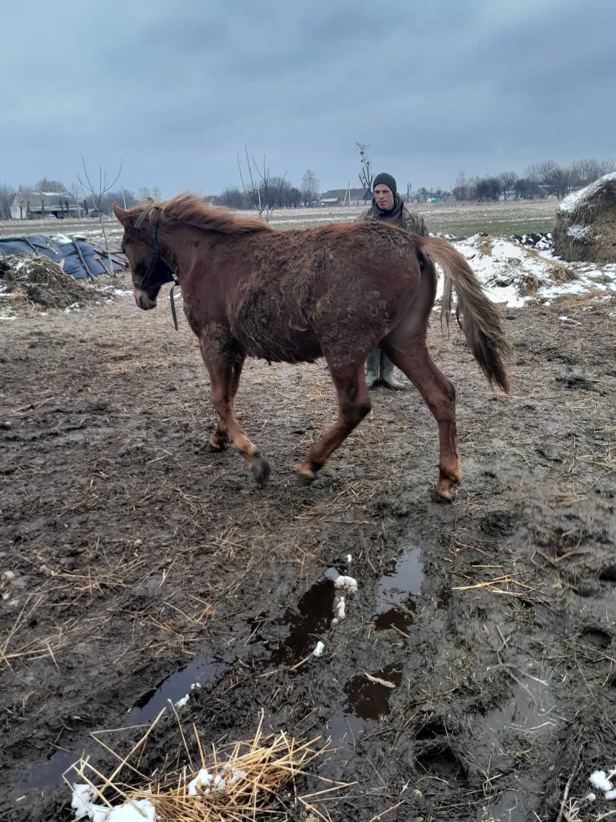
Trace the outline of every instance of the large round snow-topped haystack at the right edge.
<path fill-rule="evenodd" d="M 554 252 L 570 262 L 616 262 L 616 173 L 563 200 L 556 212 Z"/>

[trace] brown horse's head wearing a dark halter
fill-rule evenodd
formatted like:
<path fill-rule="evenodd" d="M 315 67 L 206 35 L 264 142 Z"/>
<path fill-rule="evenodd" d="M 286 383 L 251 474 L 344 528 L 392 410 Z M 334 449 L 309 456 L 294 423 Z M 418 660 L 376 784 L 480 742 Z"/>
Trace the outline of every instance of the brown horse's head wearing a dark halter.
<path fill-rule="evenodd" d="M 161 285 L 174 279 L 171 270 L 160 257 L 159 223 L 157 215 L 153 214 L 155 209 L 151 197 L 139 211 L 126 211 L 113 203 L 113 214 L 124 227 L 122 252 L 126 254 L 131 266 L 135 302 L 144 311 L 156 307 Z"/>

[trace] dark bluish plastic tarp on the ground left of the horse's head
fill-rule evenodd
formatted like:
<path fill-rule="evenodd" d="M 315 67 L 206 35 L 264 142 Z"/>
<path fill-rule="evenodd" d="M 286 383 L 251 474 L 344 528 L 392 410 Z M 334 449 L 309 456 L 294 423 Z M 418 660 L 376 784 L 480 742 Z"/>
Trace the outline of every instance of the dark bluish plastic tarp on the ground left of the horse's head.
<path fill-rule="evenodd" d="M 27 237 L 5 237 L 0 238 L 0 256 L 7 254 L 44 254 L 59 266 L 64 261 L 64 270 L 67 274 L 72 275 L 75 279 L 84 279 L 88 276 L 81 263 L 79 253 L 76 245 L 84 257 L 85 263 L 90 269 L 93 276 L 99 274 L 106 274 L 107 269 L 103 266 L 109 265 L 107 252 L 95 243 L 88 242 L 84 239 L 74 239 L 72 242 L 65 242 L 59 244 L 53 240 L 44 237 L 42 234 L 29 234 Z M 122 265 L 124 255 L 121 252 L 112 252 L 113 270 L 122 271 L 126 268 L 126 264 Z"/>

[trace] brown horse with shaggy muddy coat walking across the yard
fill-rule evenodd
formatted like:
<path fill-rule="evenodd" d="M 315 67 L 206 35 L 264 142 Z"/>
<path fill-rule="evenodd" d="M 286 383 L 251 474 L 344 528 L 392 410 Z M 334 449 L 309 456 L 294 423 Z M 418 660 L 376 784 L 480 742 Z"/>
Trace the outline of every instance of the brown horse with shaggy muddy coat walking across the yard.
<path fill-rule="evenodd" d="M 215 450 L 231 440 L 258 483 L 269 464 L 241 430 L 233 400 L 246 356 L 269 362 L 327 361 L 338 393 L 338 420 L 310 448 L 301 482 L 311 483 L 329 455 L 370 411 L 366 355 L 380 346 L 420 391 L 439 424 L 439 482 L 446 500 L 462 480 L 455 389 L 426 348 L 436 293 L 434 261 L 445 271 L 442 312 L 452 288 L 457 317 L 490 384 L 509 391 L 511 349 L 498 309 L 448 242 L 380 223 L 329 224 L 278 231 L 259 219 L 203 205 L 190 194 L 113 211 L 124 226 L 140 308 L 156 307 L 163 283 L 177 279 L 186 319 L 209 372 L 218 427 Z"/>

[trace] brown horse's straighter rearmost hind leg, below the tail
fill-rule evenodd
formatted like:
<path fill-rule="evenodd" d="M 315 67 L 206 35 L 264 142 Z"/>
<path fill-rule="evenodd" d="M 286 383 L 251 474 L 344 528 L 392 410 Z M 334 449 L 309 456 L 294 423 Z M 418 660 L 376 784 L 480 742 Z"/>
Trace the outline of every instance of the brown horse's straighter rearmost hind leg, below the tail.
<path fill-rule="evenodd" d="M 406 336 L 406 335 L 405 335 Z M 381 343 L 388 357 L 403 371 L 425 400 L 439 423 L 439 482 L 435 492 L 451 500 L 453 487 L 462 482 L 457 456 L 456 390 L 430 357 L 424 335 L 413 335 L 407 342 L 403 330 L 396 329 Z"/>

